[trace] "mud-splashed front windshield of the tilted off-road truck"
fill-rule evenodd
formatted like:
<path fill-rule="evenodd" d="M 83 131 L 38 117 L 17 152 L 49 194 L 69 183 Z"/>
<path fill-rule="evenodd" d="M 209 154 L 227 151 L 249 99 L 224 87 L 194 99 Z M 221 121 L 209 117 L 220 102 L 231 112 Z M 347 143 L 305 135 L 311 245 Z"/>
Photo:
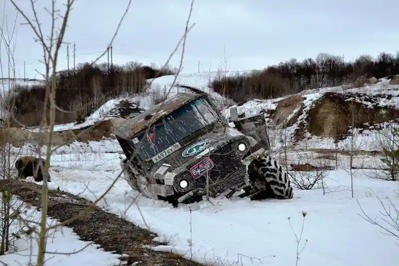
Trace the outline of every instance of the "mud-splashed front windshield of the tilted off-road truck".
<path fill-rule="evenodd" d="M 151 126 L 138 153 L 142 159 L 150 159 L 216 119 L 216 113 L 205 99 L 186 104 Z M 145 133 L 145 130 L 139 133 L 133 143 L 138 144 Z"/>

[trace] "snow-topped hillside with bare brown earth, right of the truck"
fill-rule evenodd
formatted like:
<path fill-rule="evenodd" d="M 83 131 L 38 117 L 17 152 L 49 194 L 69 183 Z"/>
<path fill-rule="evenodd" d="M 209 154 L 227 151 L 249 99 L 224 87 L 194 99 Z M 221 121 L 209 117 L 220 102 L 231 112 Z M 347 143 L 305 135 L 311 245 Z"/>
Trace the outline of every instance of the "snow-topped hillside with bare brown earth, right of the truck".
<path fill-rule="evenodd" d="M 306 143 L 308 148 L 329 149 L 335 141 L 345 140 L 352 126 L 356 129 L 355 137 L 372 143 L 380 124 L 398 121 L 399 85 L 391 85 L 390 79 L 383 78 L 363 87 L 342 85 L 305 90 L 233 106 L 239 115 L 245 116 L 265 111 L 269 126 L 284 128 L 290 144 Z M 233 106 L 224 110 L 226 118 Z M 373 150 L 370 146 L 364 149 Z"/>

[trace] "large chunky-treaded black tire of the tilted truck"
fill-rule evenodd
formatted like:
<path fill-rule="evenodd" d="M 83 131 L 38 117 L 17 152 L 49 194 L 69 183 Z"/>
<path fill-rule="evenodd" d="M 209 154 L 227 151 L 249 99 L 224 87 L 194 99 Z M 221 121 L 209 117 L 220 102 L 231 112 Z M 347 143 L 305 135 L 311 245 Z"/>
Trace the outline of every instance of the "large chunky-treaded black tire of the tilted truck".
<path fill-rule="evenodd" d="M 251 200 L 292 199 L 294 194 L 287 172 L 271 157 L 260 157 L 248 165 L 249 183 L 256 191 Z"/>

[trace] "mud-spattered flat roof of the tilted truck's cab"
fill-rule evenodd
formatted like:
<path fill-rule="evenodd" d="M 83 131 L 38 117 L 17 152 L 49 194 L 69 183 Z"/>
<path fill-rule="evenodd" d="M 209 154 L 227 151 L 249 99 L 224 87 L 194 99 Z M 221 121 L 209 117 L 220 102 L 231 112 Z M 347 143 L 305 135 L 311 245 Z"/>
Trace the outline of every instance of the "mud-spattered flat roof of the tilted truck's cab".
<path fill-rule="evenodd" d="M 131 139 L 134 135 L 139 133 L 140 131 L 146 129 L 150 122 L 157 121 L 158 119 L 172 113 L 176 109 L 182 107 L 188 102 L 200 98 L 203 96 L 202 93 L 196 92 L 180 92 L 175 94 L 174 96 L 166 99 L 163 104 L 159 103 L 153 105 L 147 111 L 120 123 L 114 130 L 114 134 L 118 137 Z M 162 104 L 161 109 L 160 106 Z M 159 111 L 158 111 L 159 110 Z M 149 115 L 152 115 L 148 118 Z"/>

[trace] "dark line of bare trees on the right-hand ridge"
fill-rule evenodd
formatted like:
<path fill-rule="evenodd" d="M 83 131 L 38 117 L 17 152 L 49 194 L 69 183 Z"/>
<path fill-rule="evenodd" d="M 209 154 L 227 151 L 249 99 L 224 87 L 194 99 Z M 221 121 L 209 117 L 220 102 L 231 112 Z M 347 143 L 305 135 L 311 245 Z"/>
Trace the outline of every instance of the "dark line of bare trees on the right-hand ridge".
<path fill-rule="evenodd" d="M 399 52 L 381 52 L 376 58 L 361 55 L 348 62 L 343 56 L 319 53 L 315 58 L 295 58 L 261 71 L 232 76 L 219 75 L 209 84 L 216 92 L 234 101 L 276 98 L 303 90 L 339 86 L 362 78 L 382 78 L 399 74 Z"/>

